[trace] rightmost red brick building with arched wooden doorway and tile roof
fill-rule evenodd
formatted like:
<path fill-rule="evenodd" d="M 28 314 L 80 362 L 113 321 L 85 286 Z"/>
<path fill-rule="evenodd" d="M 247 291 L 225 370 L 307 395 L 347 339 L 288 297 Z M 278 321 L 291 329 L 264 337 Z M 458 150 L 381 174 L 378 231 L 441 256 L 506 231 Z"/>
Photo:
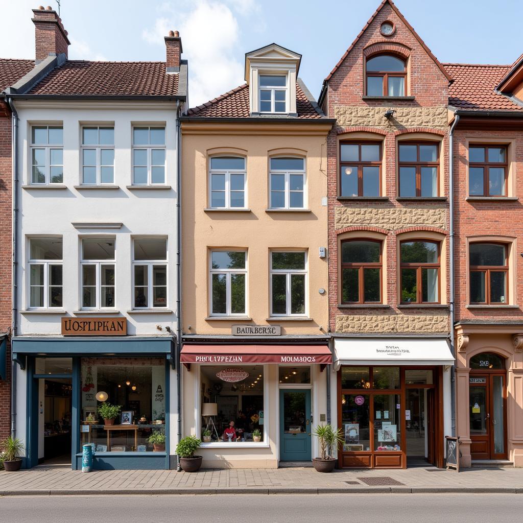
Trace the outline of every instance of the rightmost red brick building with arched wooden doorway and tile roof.
<path fill-rule="evenodd" d="M 454 82 L 456 397 L 462 464 L 523 467 L 523 55 Z"/>

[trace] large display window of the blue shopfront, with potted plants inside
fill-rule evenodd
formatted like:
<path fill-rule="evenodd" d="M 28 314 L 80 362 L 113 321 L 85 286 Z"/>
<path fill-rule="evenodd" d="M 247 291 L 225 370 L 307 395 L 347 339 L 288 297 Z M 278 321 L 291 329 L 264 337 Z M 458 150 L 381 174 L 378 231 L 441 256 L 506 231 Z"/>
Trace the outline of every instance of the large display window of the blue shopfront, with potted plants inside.
<path fill-rule="evenodd" d="M 82 358 L 81 365 L 82 444 L 95 452 L 165 451 L 165 361 Z"/>

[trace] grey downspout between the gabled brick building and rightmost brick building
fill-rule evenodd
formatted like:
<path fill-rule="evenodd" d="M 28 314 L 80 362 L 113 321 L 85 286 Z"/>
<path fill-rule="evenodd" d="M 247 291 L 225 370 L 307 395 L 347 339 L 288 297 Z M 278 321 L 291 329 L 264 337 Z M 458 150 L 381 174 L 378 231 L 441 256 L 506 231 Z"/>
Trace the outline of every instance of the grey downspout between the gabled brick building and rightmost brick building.
<path fill-rule="evenodd" d="M 454 361 L 456 359 L 456 344 L 454 339 L 454 322 L 456 311 L 456 278 L 454 277 L 454 129 L 459 122 L 459 115 L 454 113 L 454 121 L 449 131 L 449 272 L 450 272 L 450 351 Z M 452 436 L 456 436 L 456 366 L 450 369 L 450 413 Z"/>

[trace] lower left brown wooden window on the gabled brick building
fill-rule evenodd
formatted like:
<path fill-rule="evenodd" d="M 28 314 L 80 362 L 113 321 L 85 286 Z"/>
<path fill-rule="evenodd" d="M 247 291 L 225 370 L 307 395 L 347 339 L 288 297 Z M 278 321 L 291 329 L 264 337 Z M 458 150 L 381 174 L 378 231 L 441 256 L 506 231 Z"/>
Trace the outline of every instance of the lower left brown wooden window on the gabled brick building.
<path fill-rule="evenodd" d="M 381 303 L 382 242 L 342 242 L 342 303 Z"/>

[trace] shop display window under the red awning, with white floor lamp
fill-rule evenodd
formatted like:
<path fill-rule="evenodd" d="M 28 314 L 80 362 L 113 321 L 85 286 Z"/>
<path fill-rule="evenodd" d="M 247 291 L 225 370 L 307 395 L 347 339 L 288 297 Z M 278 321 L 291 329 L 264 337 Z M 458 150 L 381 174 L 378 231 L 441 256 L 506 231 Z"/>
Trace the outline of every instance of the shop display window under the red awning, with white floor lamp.
<path fill-rule="evenodd" d="M 202 439 L 240 445 L 263 441 L 263 366 L 202 365 L 200 386 Z"/>

